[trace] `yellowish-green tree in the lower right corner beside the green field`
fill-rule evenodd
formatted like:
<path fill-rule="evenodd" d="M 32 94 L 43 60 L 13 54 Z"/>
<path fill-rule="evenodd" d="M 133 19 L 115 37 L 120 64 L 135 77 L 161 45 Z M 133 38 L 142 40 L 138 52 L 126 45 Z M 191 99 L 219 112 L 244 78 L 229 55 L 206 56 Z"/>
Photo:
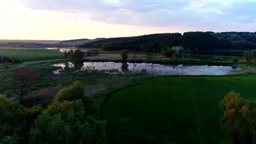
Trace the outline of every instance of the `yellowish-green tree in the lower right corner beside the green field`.
<path fill-rule="evenodd" d="M 255 143 L 255 103 L 246 104 L 239 93 L 231 91 L 220 102 L 220 124 L 232 143 Z"/>

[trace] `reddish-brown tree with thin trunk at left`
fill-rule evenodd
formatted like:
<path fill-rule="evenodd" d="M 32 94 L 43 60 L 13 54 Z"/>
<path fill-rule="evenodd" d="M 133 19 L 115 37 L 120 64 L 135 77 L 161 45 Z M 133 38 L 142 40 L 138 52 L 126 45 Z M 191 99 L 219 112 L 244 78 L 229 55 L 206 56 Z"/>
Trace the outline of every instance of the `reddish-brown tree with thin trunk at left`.
<path fill-rule="evenodd" d="M 16 68 L 13 71 L 13 74 L 16 79 L 20 81 L 21 89 L 19 101 L 22 104 L 22 100 L 24 97 L 24 88 L 26 87 L 28 82 L 33 82 L 34 80 L 36 80 L 36 76 L 34 75 L 34 73 L 32 73 L 30 69 L 27 68 Z"/>

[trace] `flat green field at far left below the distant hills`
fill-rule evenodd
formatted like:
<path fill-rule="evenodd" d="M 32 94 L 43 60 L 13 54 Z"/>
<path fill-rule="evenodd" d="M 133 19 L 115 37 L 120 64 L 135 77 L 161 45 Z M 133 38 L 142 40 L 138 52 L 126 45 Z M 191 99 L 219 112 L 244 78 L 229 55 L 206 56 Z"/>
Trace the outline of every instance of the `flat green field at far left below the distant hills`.
<path fill-rule="evenodd" d="M 62 53 L 57 50 L 45 49 L 13 49 L 0 48 L 1 57 L 17 57 L 25 60 L 58 59 L 62 58 Z"/>

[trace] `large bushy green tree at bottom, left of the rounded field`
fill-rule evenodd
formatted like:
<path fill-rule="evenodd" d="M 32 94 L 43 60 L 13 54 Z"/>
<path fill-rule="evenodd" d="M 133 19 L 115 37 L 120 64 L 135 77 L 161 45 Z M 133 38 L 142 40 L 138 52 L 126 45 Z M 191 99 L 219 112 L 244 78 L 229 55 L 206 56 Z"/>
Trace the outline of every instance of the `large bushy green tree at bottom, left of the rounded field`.
<path fill-rule="evenodd" d="M 82 100 L 54 100 L 38 116 L 29 137 L 30 143 L 104 143 L 106 123 L 86 115 Z"/>

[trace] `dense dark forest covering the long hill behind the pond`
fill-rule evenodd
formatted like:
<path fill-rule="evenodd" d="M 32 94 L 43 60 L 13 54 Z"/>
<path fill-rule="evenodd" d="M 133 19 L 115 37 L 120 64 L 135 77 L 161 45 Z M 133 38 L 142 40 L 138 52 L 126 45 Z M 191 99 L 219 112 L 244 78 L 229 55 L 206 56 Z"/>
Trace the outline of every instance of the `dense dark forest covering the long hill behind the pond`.
<path fill-rule="evenodd" d="M 160 52 L 162 48 L 182 46 L 198 54 L 242 55 L 245 50 L 256 48 L 256 32 L 185 32 L 150 34 L 138 37 L 109 38 L 79 45 L 104 50 L 136 50 Z"/>

